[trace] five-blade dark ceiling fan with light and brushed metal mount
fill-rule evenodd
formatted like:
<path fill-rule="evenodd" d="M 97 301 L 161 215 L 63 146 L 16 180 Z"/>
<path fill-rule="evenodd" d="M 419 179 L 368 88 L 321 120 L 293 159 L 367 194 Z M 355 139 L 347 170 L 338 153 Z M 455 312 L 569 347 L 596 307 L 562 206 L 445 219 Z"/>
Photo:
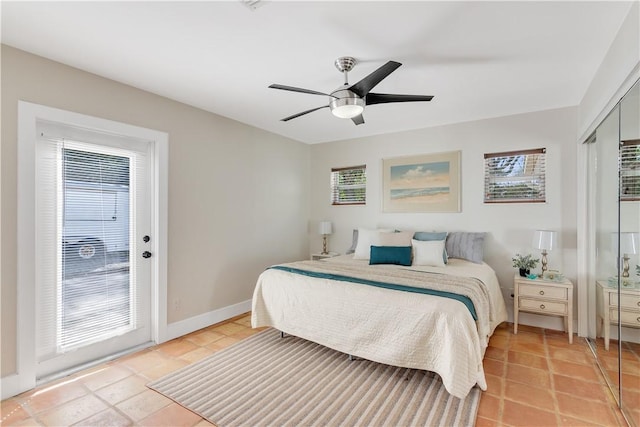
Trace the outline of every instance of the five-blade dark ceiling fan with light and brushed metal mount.
<path fill-rule="evenodd" d="M 281 121 L 286 122 L 291 119 L 295 119 L 305 114 L 312 113 L 322 108 L 330 108 L 331 113 L 341 119 L 351 119 L 356 125 L 364 123 L 362 112 L 366 105 L 374 104 L 386 104 L 390 102 L 415 102 L 415 101 L 431 101 L 433 96 L 427 95 L 395 95 L 387 93 L 373 93 L 370 92 L 378 83 L 385 79 L 389 74 L 393 73 L 402 64 L 395 61 L 389 61 L 382 67 L 369 74 L 358 83 L 349 85 L 347 73 L 353 69 L 356 65 L 355 58 L 351 56 L 343 56 L 335 61 L 335 66 L 341 73 L 344 74 L 344 84 L 334 90 L 331 93 L 323 93 L 310 89 L 303 89 L 293 86 L 285 86 L 279 84 L 272 84 L 269 87 L 272 89 L 289 90 L 291 92 L 309 93 L 311 95 L 323 95 L 328 96 L 329 104 L 321 107 L 312 108 L 310 110 L 302 111 L 289 117 L 285 117 Z"/>

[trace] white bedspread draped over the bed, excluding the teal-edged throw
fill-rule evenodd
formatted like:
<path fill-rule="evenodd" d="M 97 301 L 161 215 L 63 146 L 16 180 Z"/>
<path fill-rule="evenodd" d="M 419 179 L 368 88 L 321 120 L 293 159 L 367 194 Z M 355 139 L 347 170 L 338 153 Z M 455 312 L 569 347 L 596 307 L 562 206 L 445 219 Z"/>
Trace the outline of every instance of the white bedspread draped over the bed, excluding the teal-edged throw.
<path fill-rule="evenodd" d="M 324 263 L 367 262 L 343 256 L 315 264 Z M 436 372 L 456 397 L 463 398 L 476 384 L 485 390 L 482 358 L 488 337 L 507 319 L 495 272 L 486 264 L 458 259 L 445 267 L 372 268 L 385 274 L 413 269 L 477 278 L 488 295 L 487 313 L 478 313 L 478 322 L 485 319 L 487 325 L 476 324 L 463 303 L 449 298 L 269 269 L 256 284 L 252 326 L 271 326 L 379 363 Z"/>

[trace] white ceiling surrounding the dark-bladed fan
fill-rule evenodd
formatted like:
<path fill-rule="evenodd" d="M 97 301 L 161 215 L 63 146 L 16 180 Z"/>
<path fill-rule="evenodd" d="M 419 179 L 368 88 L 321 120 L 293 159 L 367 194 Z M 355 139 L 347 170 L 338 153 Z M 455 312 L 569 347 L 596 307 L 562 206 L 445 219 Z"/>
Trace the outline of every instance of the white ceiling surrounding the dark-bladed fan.
<path fill-rule="evenodd" d="M 307 143 L 577 105 L 631 2 L 2 1 L 2 43 Z M 373 92 L 433 95 L 372 105 L 355 126 L 322 109 L 333 63 Z"/>

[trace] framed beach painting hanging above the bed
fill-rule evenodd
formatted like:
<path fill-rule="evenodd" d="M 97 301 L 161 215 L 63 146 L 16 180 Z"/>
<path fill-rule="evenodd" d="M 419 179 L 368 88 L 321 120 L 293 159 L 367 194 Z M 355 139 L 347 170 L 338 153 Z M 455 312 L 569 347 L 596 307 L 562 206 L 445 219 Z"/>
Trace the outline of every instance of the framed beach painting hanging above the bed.
<path fill-rule="evenodd" d="M 460 151 L 383 159 L 384 212 L 460 212 Z"/>

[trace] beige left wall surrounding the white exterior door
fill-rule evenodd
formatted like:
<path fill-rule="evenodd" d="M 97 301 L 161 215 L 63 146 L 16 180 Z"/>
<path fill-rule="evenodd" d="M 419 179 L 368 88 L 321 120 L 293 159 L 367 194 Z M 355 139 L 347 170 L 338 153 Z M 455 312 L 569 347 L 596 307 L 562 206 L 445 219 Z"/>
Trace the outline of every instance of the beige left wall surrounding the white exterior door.
<path fill-rule="evenodd" d="M 1 59 L 3 377 L 16 366 L 18 100 L 169 134 L 169 323 L 249 300 L 266 266 L 308 257 L 308 145 L 8 46 Z"/>

